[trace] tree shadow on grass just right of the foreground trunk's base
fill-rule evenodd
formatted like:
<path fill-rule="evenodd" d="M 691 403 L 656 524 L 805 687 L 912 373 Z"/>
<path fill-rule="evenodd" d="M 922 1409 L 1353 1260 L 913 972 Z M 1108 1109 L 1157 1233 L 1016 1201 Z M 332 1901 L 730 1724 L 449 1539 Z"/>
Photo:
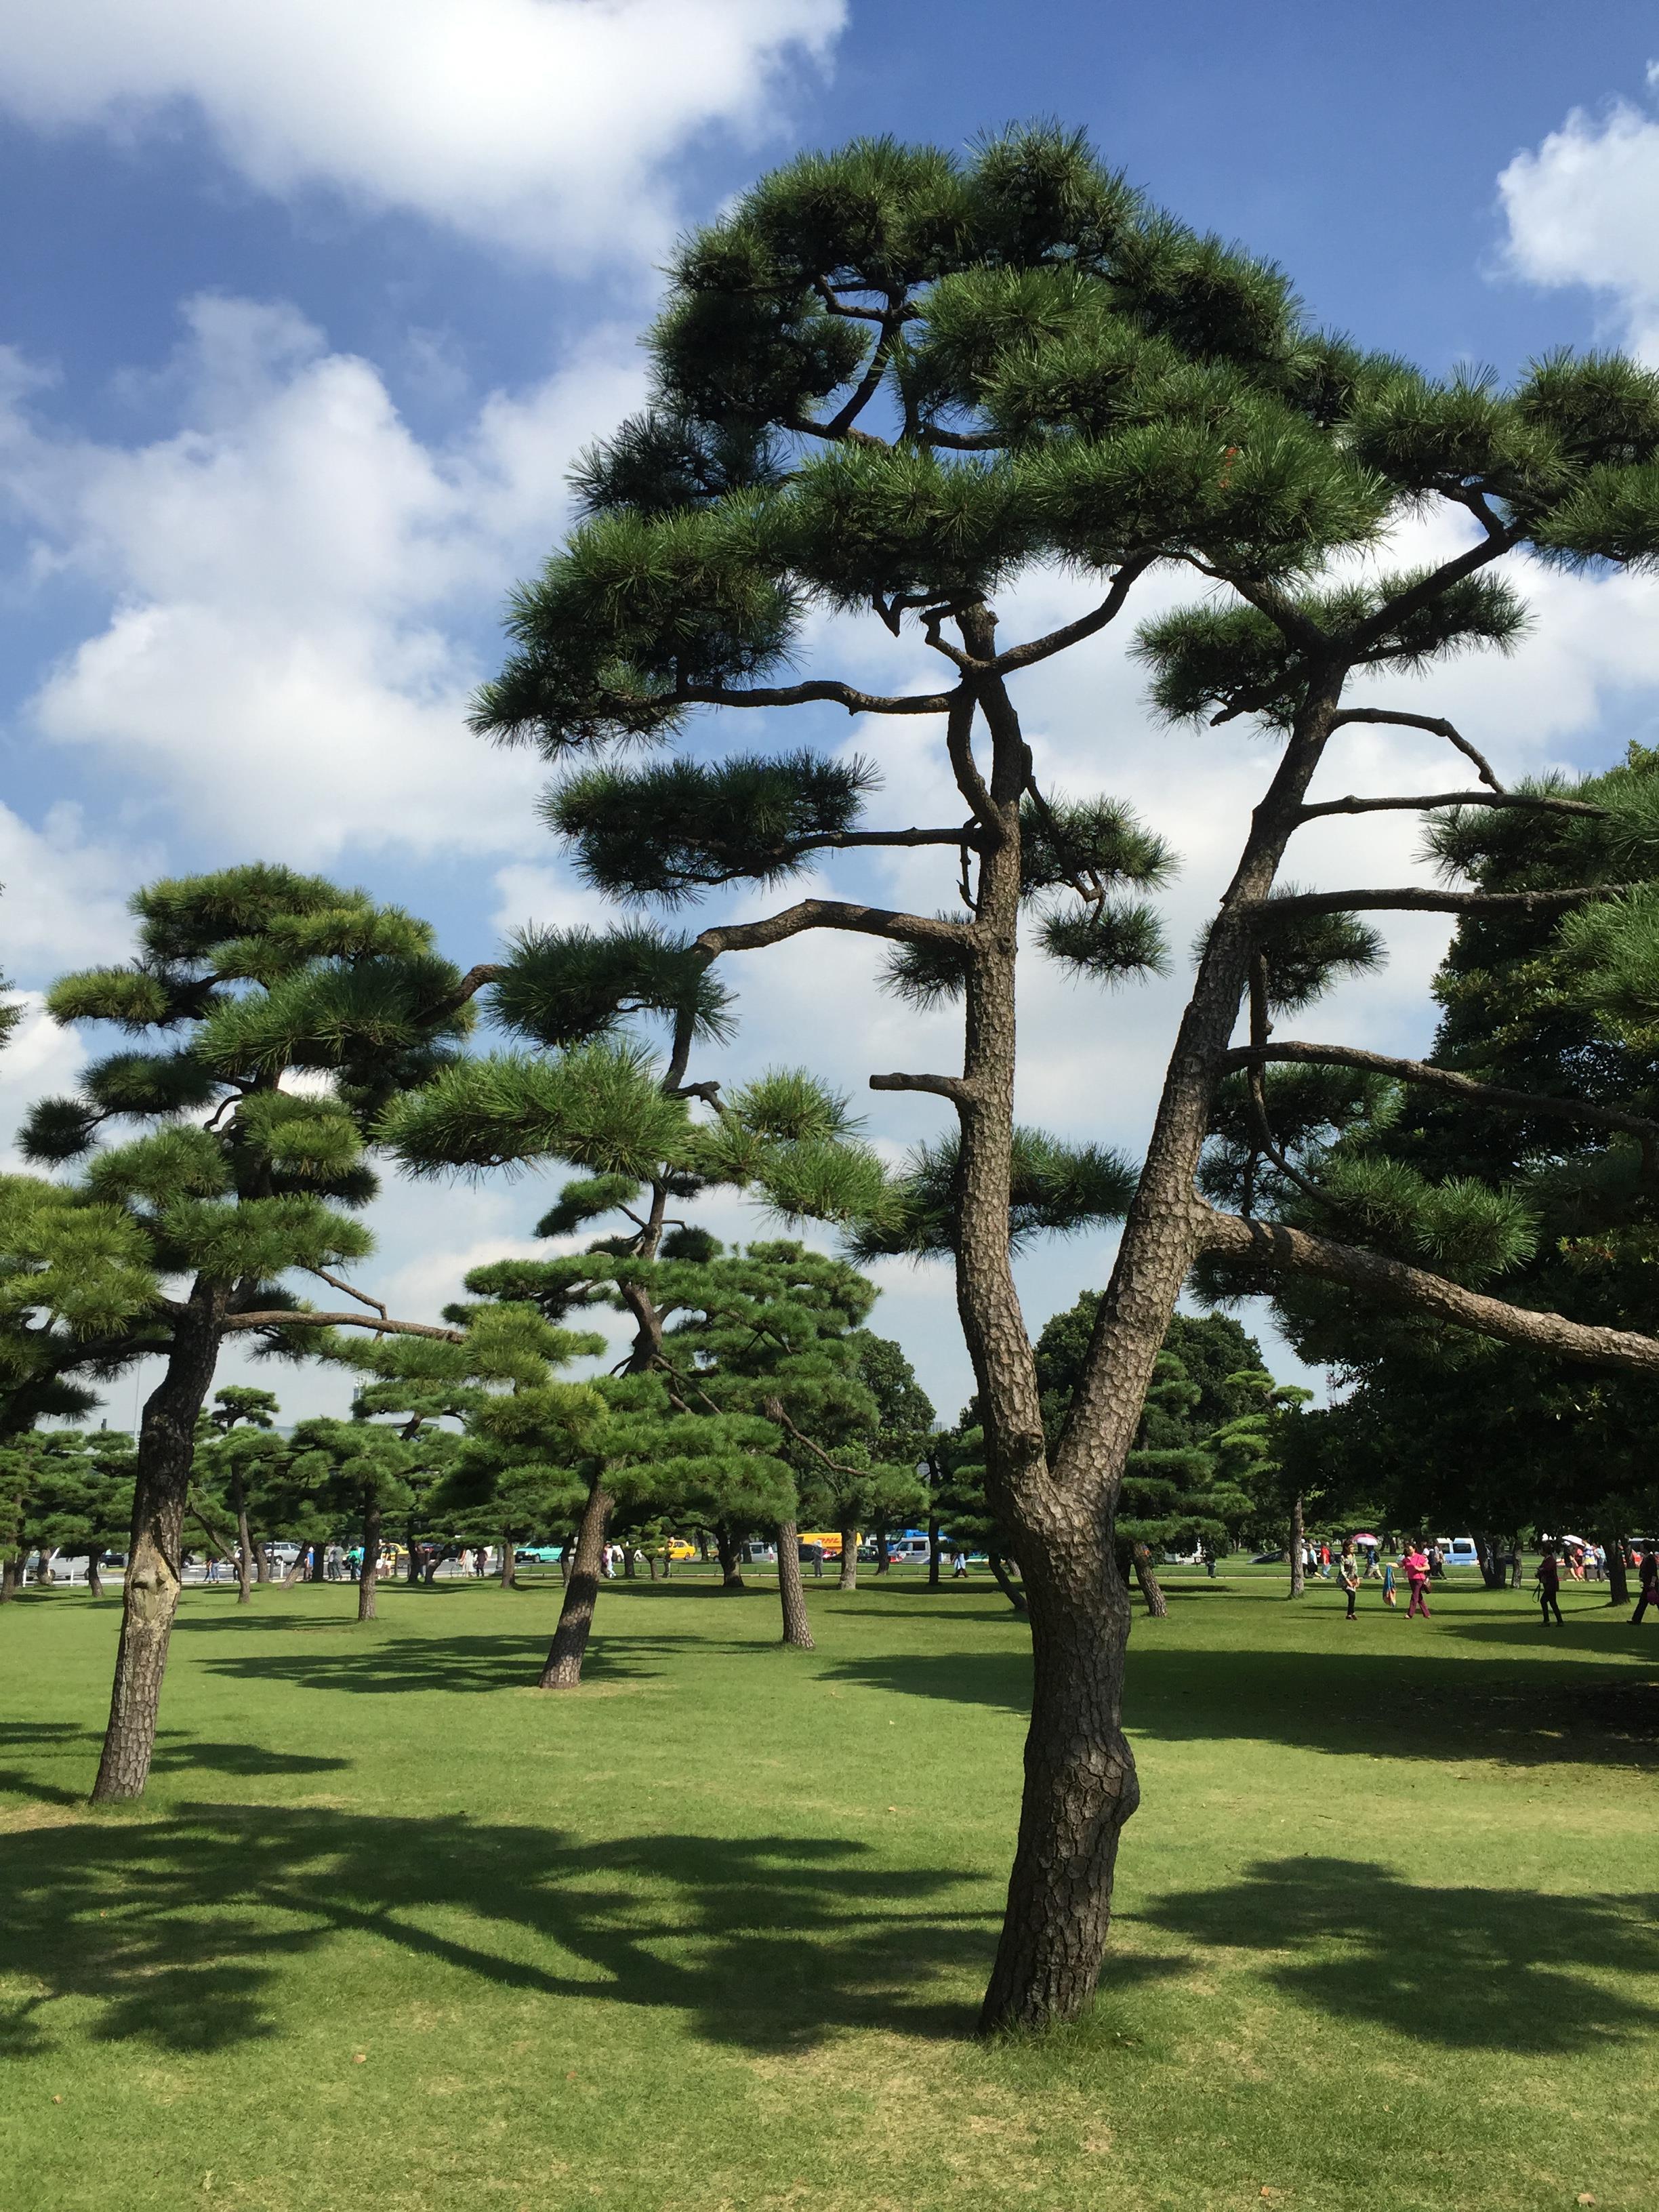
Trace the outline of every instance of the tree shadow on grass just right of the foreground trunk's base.
<path fill-rule="evenodd" d="M 1564 2055 L 1659 2028 L 1657 1907 L 1659 1896 L 1429 1889 L 1365 1860 L 1279 1858 L 1133 1918 L 1206 1951 L 1270 1953 L 1267 1980 L 1334 2020 L 1455 2051 Z"/>

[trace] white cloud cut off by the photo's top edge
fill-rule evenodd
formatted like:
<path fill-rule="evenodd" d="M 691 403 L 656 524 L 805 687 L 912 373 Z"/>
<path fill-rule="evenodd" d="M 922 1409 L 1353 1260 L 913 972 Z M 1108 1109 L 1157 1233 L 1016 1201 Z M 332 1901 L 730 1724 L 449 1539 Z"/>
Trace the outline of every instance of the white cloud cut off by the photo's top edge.
<path fill-rule="evenodd" d="M 562 268 L 653 257 L 664 175 L 754 142 L 845 0 L 13 0 L 0 102 L 122 137 L 199 117 L 263 192 L 327 188 Z"/>

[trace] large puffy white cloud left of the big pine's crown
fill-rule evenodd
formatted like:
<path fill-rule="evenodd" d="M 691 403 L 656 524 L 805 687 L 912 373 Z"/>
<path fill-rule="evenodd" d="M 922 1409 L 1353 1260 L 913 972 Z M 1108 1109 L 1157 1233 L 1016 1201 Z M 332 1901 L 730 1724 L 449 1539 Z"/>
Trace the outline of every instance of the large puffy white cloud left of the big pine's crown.
<path fill-rule="evenodd" d="M 557 535 L 573 451 L 639 394 L 635 349 L 599 332 L 429 447 L 292 307 L 197 299 L 186 323 L 188 427 L 150 445 L 58 436 L 11 376 L 0 484 L 31 568 L 111 602 L 35 728 L 232 854 L 535 849 L 540 768 L 465 732 L 469 637 Z"/>

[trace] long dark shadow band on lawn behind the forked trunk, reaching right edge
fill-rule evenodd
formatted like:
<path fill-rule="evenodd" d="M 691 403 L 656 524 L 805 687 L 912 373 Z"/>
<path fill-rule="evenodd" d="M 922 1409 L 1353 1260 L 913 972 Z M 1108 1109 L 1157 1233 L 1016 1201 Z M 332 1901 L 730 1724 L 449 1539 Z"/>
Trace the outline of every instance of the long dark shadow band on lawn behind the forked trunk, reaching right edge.
<path fill-rule="evenodd" d="M 825 1668 L 909 1697 L 1031 1710 L 1022 1650 L 876 1655 Z M 1504 1677 L 1462 1657 L 1159 1650 L 1128 1655 L 1124 1723 L 1166 1743 L 1252 1739 L 1371 1759 L 1659 1765 L 1659 1683 L 1619 1668 Z"/>

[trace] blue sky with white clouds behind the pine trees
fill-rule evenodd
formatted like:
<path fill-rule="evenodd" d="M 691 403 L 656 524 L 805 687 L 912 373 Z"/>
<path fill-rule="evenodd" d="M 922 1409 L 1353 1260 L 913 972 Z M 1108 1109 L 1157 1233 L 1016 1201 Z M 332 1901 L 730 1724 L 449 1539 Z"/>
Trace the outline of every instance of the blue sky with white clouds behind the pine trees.
<path fill-rule="evenodd" d="M 535 830 L 535 770 L 465 734 L 465 695 L 507 584 L 557 535 L 571 453 L 637 394 L 675 228 L 770 161 L 1060 115 L 1175 212 L 1279 259 L 1321 321 L 1431 369 L 1604 341 L 1659 358 L 1655 55 L 1659 9 L 1626 0 L 13 0 L 4 967 L 38 987 L 119 956 L 137 880 L 250 854 L 405 900 L 462 960 L 504 925 L 591 911 Z M 1650 588 L 1540 580 L 1537 606 L 1517 664 L 1447 692 L 1482 741 L 1528 770 L 1652 737 Z M 1057 783 L 1128 790 L 1188 852 L 1181 940 L 1263 754 L 1155 732 L 1117 646 L 1033 684 L 1031 710 Z M 1418 772 L 1387 743 L 1349 765 Z M 894 754 L 894 818 L 929 774 Z M 1332 841 L 1314 872 L 1343 880 L 1356 849 L 1376 841 Z M 885 885 L 931 898 L 914 872 Z M 1438 942 L 1402 931 L 1380 993 L 1338 993 L 1325 1033 L 1422 1044 Z M 863 1088 L 911 1057 L 869 962 L 739 982 L 734 1068 L 812 1060 Z M 1037 984 L 1022 1110 L 1133 1146 L 1175 1011 L 1170 991 Z M 35 1026 L 13 1046 L 4 1128 L 75 1042 Z M 872 1106 L 894 1146 L 929 1128 L 914 1099 Z M 394 1190 L 380 1281 L 429 1310 L 538 1210 L 538 1190 Z M 1106 1256 L 1031 1261 L 1033 1323 Z M 894 1274 L 880 1312 L 953 1409 L 949 1285 Z"/>

